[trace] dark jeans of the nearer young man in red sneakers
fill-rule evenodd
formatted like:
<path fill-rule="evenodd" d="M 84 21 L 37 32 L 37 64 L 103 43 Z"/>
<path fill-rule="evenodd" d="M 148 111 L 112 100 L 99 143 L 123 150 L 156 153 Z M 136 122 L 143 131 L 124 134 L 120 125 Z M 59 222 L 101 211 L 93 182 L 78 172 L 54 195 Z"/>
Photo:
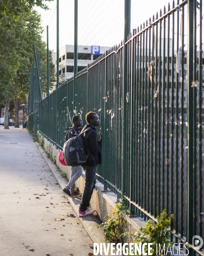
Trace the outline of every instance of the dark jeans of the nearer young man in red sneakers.
<path fill-rule="evenodd" d="M 97 166 L 83 166 L 85 170 L 85 188 L 82 195 L 79 211 L 84 212 L 90 205 L 91 196 L 96 185 L 96 168 Z"/>

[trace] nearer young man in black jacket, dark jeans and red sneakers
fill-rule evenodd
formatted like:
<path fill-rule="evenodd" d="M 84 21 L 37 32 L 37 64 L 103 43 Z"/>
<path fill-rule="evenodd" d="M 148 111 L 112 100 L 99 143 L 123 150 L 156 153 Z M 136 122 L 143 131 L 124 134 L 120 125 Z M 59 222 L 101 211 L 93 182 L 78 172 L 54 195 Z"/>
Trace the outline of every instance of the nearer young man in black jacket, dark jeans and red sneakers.
<path fill-rule="evenodd" d="M 85 170 L 85 188 L 79 207 L 79 218 L 95 212 L 95 210 L 91 209 L 89 206 L 94 186 L 96 185 L 96 168 L 101 164 L 100 150 L 102 146 L 102 134 L 100 132 L 97 134 L 95 128 L 100 124 L 99 116 L 95 112 L 89 112 L 86 114 L 86 122 L 88 122 L 88 125 L 85 125 L 82 131 L 89 127 L 92 129 L 81 135 L 84 137 L 88 159 L 83 166 Z M 100 140 L 98 140 L 98 135 L 100 136 Z"/>

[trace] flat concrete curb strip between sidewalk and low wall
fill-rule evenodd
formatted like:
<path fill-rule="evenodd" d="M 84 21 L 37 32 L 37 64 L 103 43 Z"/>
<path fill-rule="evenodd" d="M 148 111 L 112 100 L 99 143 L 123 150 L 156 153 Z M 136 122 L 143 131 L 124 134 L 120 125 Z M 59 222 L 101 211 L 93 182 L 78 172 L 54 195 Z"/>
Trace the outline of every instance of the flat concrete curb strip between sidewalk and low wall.
<path fill-rule="evenodd" d="M 67 185 L 67 180 L 60 175 L 60 170 L 57 168 L 57 165 L 54 164 L 47 157 L 45 150 L 42 147 L 39 147 L 37 143 L 36 145 L 40 150 L 42 156 L 44 157 L 46 163 L 48 164 L 49 168 L 51 169 L 51 172 L 53 173 L 57 182 L 59 183 L 59 186 L 63 189 Z M 80 200 L 75 198 L 73 199 L 68 198 L 68 200 L 78 217 Z M 96 215 L 88 215 L 88 216 L 85 216 L 84 218 L 79 218 L 79 221 L 81 221 L 82 225 L 84 226 L 86 232 L 90 236 L 93 243 L 98 243 L 98 244 L 104 243 L 104 234 L 103 234 L 102 228 L 96 228 L 96 226 L 101 223 L 99 219 L 96 217 Z"/>

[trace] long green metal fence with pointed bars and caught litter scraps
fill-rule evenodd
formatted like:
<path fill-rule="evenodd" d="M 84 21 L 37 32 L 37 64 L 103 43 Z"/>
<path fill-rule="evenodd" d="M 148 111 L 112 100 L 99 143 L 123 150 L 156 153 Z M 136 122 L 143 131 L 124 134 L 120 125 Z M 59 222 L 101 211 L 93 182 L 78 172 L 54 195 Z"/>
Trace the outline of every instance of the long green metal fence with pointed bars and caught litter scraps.
<path fill-rule="evenodd" d="M 202 0 L 164 7 L 134 29 L 126 45 L 127 91 L 123 42 L 77 73 L 75 90 L 74 78 L 61 84 L 43 99 L 43 108 L 33 66 L 29 126 L 38 111 L 40 133 L 62 149 L 72 116 L 85 123 L 85 114 L 96 112 L 103 135 L 96 175 L 104 189 L 125 197 L 130 214 L 144 219 L 163 209 L 174 213 L 171 239 L 204 255 L 192 246 L 194 235 L 204 239 Z"/>

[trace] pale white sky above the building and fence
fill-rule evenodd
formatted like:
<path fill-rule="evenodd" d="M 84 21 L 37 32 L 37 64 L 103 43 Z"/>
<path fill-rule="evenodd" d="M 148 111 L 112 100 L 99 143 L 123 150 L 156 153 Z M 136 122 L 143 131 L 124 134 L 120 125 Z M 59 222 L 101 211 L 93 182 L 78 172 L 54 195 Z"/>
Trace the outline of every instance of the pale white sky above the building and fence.
<path fill-rule="evenodd" d="M 113 47 L 124 37 L 125 0 L 78 0 L 78 45 Z M 36 8 L 42 16 L 47 41 L 49 26 L 49 49 L 57 48 L 57 0 L 46 2 L 49 10 Z M 131 31 L 156 15 L 168 5 L 167 0 L 131 0 Z M 172 7 L 172 2 L 170 2 Z M 74 44 L 74 0 L 59 0 L 59 49 Z"/>

